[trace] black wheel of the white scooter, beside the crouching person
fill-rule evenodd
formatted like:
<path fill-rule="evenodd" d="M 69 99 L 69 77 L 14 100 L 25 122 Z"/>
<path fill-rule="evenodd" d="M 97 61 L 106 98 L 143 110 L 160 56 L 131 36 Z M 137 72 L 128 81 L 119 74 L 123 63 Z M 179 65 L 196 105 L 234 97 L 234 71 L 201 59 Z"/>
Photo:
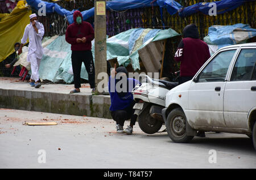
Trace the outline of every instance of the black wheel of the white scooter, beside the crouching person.
<path fill-rule="evenodd" d="M 163 122 L 152 118 L 150 115 L 150 106 L 143 110 L 138 116 L 138 123 L 141 130 L 147 134 L 154 134 L 160 130 Z"/>

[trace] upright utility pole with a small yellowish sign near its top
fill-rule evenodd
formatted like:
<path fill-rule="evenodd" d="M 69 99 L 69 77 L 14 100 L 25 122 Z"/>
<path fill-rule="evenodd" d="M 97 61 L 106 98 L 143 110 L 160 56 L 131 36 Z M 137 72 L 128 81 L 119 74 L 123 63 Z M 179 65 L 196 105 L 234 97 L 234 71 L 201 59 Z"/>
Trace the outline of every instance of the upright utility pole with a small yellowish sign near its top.
<path fill-rule="evenodd" d="M 95 57 L 95 85 L 96 95 L 102 94 L 101 87 L 97 87 L 101 79 L 98 74 L 107 73 L 106 63 L 106 1 L 94 0 L 94 57 Z M 102 78 L 102 77 L 99 77 Z"/>

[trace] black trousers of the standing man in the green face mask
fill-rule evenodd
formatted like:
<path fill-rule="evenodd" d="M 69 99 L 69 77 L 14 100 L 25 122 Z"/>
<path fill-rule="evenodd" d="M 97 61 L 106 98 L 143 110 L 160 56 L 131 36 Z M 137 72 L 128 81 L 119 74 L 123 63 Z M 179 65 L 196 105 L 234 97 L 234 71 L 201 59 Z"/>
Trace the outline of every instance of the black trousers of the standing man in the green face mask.
<path fill-rule="evenodd" d="M 81 87 L 80 74 L 81 74 L 82 62 L 84 62 L 84 66 L 86 68 L 86 71 L 88 72 L 88 80 L 89 80 L 90 88 L 95 88 L 95 68 L 93 63 L 92 51 L 73 50 L 71 55 L 71 61 L 72 61 L 75 88 Z"/>

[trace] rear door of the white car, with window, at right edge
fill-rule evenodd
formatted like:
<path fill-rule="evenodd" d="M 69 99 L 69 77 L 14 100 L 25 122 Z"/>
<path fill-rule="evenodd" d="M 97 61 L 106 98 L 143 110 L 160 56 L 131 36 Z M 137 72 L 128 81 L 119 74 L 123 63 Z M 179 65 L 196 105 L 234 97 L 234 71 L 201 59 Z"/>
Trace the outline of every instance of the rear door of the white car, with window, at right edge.
<path fill-rule="evenodd" d="M 224 91 L 227 127 L 248 128 L 247 115 L 256 106 L 256 48 L 242 48 Z"/>

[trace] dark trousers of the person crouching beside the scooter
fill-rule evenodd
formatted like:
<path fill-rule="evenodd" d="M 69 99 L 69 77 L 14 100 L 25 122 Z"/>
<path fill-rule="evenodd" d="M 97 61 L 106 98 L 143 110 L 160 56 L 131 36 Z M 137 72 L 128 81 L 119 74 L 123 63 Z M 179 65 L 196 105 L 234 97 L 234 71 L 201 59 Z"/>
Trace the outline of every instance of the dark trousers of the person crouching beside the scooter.
<path fill-rule="evenodd" d="M 115 110 L 111 112 L 112 118 L 117 122 L 118 125 L 123 126 L 125 121 L 131 119 L 130 126 L 134 126 L 137 120 L 138 115 L 134 114 L 135 109 L 133 109 L 135 102 L 131 103 L 131 105 L 122 110 Z"/>

